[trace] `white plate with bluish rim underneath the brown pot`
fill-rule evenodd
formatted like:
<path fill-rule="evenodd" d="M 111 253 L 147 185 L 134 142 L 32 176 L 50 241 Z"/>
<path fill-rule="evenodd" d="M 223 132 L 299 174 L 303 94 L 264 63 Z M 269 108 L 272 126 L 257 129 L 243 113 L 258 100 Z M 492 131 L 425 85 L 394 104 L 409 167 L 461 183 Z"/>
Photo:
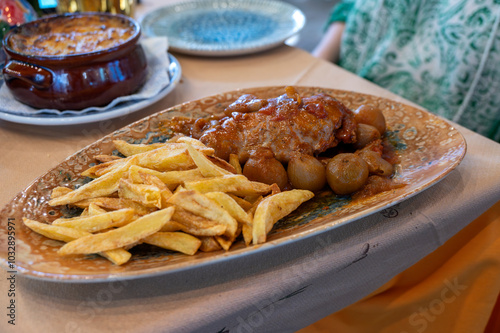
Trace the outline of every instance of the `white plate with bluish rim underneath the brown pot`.
<path fill-rule="evenodd" d="M 112 107 L 109 106 L 102 108 L 89 108 L 89 111 L 85 112 L 62 111 L 64 114 L 55 112 L 22 114 L 18 112 L 2 110 L 2 107 L 0 106 L 0 119 L 11 121 L 14 123 L 38 126 L 74 125 L 112 119 L 141 110 L 142 108 L 152 105 L 163 97 L 167 96 L 179 84 L 179 81 L 181 79 L 181 65 L 174 56 L 172 56 L 171 54 L 168 54 L 168 56 L 170 62 L 167 68 L 167 74 L 170 82 L 156 95 L 150 98 L 122 101 L 121 103 L 118 103 Z M 128 96 L 124 96 L 124 99 L 127 99 L 127 97 Z"/>

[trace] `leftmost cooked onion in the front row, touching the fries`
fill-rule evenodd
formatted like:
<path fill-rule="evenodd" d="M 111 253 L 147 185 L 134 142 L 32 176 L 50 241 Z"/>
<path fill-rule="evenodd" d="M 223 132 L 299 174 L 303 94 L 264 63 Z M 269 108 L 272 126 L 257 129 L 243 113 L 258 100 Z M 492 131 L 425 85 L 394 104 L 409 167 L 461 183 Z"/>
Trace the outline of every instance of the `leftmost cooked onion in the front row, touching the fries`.
<path fill-rule="evenodd" d="M 250 180 L 269 185 L 276 183 L 281 190 L 288 186 L 285 167 L 269 148 L 259 148 L 250 155 L 243 167 L 243 175 Z"/>

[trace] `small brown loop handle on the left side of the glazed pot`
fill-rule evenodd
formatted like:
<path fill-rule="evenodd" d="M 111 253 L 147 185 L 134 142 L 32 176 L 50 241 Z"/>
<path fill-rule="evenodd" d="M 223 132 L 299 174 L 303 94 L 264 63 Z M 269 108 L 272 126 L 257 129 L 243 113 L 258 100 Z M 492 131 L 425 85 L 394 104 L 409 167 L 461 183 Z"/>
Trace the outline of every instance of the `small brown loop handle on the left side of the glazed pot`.
<path fill-rule="evenodd" d="M 25 62 L 10 60 L 3 69 L 4 78 L 23 80 L 38 89 L 47 89 L 52 85 L 52 72 L 43 67 L 37 67 Z"/>

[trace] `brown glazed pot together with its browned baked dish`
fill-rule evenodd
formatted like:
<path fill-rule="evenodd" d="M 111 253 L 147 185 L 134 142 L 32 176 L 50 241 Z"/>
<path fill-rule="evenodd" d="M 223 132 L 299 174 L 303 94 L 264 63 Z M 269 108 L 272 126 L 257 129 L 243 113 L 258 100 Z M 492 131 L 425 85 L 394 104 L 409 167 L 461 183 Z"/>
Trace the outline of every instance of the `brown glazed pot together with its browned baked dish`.
<path fill-rule="evenodd" d="M 140 25 L 109 13 L 45 17 L 4 38 L 3 76 L 14 98 L 34 108 L 81 110 L 137 91 L 147 61 Z"/>

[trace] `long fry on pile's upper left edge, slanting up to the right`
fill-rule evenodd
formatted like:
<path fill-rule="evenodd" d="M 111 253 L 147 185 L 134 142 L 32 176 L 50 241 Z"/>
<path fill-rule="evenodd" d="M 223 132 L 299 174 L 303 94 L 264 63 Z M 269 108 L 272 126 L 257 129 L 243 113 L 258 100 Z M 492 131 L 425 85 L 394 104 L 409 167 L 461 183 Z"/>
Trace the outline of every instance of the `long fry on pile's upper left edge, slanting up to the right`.
<path fill-rule="evenodd" d="M 111 171 L 104 176 L 101 176 L 90 183 L 87 183 L 78 189 L 64 194 L 60 197 L 51 199 L 50 206 L 60 206 L 72 204 L 90 198 L 97 198 L 110 195 L 118 190 L 120 179 L 127 172 L 130 165 L 135 163 L 134 159 L 128 160 L 125 164 L 119 166 L 114 171 Z"/>

